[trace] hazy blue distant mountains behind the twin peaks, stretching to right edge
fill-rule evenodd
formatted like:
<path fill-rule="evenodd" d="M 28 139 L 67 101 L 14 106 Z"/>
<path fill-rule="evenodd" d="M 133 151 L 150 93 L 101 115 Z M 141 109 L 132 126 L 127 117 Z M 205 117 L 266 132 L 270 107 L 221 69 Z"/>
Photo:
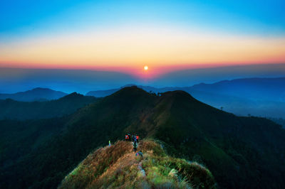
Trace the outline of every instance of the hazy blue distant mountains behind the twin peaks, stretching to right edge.
<path fill-rule="evenodd" d="M 183 90 L 204 103 L 237 115 L 285 119 L 285 77 L 224 80 L 192 87 L 138 87 L 155 93 Z M 120 89 L 90 91 L 86 95 L 105 97 Z"/>

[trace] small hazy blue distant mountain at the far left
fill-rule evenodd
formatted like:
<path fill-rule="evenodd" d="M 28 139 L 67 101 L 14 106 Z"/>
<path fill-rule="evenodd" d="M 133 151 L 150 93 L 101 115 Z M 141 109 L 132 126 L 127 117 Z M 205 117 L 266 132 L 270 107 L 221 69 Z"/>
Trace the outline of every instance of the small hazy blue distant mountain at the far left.
<path fill-rule="evenodd" d="M 33 102 L 59 99 L 66 95 L 67 94 L 64 92 L 38 87 L 33 90 L 27 90 L 25 92 L 16 92 L 14 94 L 0 94 L 0 99 L 14 99 L 23 102 Z"/>

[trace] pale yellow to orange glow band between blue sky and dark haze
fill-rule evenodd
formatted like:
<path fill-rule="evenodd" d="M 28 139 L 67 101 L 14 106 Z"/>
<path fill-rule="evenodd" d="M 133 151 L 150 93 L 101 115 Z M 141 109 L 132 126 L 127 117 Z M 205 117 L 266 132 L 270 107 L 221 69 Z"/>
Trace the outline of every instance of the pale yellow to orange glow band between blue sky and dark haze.
<path fill-rule="evenodd" d="M 175 70 L 256 63 L 285 63 L 285 38 L 119 28 L 0 44 L 0 67 L 105 70 L 142 78 Z"/>

